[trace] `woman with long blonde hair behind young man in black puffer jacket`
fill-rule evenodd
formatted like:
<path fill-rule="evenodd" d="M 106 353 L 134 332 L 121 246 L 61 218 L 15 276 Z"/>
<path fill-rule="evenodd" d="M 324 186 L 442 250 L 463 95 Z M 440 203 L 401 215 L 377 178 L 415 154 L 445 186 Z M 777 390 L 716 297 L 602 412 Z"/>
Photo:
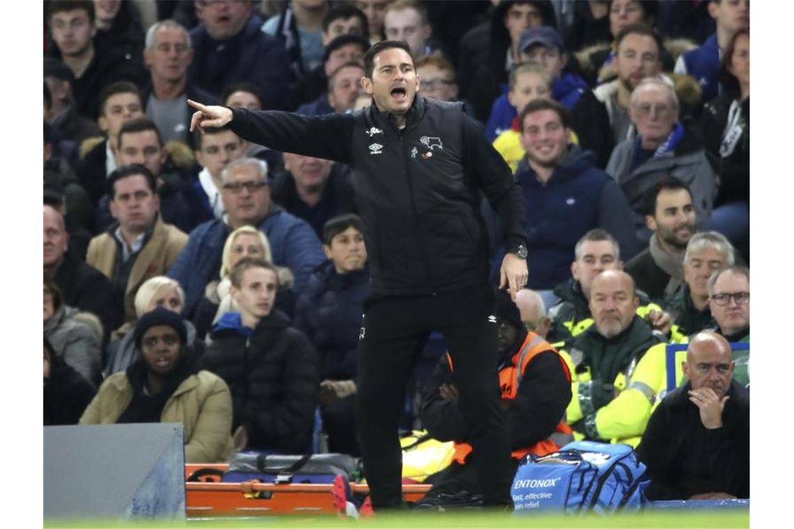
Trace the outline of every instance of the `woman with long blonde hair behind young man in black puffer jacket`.
<path fill-rule="evenodd" d="M 207 284 L 204 289 L 204 297 L 196 304 L 193 323 L 198 336 L 203 337 L 210 332 L 212 326 L 218 323 L 218 320 L 226 312 L 237 311 L 237 306 L 229 295 L 229 288 L 232 285 L 229 281 L 229 272 L 245 257 L 263 259 L 272 263 L 272 251 L 268 237 L 253 226 L 241 226 L 226 237 L 221 257 L 220 278 Z M 285 266 L 276 266 L 276 269 L 278 270 L 279 291 L 289 289 L 295 282 L 295 276 Z"/>

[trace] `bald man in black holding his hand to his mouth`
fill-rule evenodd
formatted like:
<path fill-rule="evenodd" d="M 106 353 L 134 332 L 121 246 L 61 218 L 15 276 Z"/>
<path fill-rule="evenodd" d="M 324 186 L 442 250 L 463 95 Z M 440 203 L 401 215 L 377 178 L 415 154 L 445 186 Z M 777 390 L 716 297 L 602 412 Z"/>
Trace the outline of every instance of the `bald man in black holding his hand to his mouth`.
<path fill-rule="evenodd" d="M 731 380 L 730 346 L 698 333 L 683 362 L 688 381 L 653 412 L 637 449 L 651 500 L 750 497 L 750 393 Z"/>

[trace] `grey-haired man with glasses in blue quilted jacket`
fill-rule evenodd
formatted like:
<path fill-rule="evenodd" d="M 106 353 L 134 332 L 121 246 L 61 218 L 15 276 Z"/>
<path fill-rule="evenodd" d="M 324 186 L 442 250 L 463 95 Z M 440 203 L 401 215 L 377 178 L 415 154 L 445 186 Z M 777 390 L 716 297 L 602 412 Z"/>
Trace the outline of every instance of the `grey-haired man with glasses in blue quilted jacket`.
<path fill-rule="evenodd" d="M 287 266 L 295 274 L 296 295 L 303 292 L 314 267 L 325 260 L 310 225 L 272 203 L 266 163 L 238 159 L 229 163 L 221 178 L 226 213 L 222 219 L 199 224 L 168 270 L 168 277 L 176 279 L 185 291 L 183 314 L 188 319 L 207 283 L 218 277 L 226 237 L 241 226 L 257 226 L 268 236 L 273 263 Z"/>

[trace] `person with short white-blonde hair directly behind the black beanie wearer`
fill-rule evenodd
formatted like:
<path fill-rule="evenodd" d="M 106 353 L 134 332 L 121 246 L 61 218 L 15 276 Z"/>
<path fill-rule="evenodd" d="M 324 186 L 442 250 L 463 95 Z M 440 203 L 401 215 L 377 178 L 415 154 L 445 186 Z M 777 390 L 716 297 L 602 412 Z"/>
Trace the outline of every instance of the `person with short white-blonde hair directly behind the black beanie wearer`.
<path fill-rule="evenodd" d="M 185 293 L 175 279 L 167 278 L 164 275 L 157 275 L 148 278 L 135 294 L 133 305 L 137 320 L 141 316 L 157 307 L 163 307 L 172 312 L 182 315 L 182 307 L 185 302 Z M 133 341 L 133 329 L 137 320 L 128 321 L 118 328 L 107 346 L 105 369 L 103 373 L 107 377 L 110 374 L 124 371 L 135 362 L 138 351 Z M 187 328 L 187 343 L 193 345 L 196 332 L 193 324 L 184 321 Z"/>

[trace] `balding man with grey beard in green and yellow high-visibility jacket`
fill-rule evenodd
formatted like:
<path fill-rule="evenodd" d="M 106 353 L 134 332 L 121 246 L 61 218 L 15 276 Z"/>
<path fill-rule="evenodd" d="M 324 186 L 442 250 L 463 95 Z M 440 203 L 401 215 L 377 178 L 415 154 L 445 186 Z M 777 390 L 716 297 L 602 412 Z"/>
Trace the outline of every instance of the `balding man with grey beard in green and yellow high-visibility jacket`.
<path fill-rule="evenodd" d="M 566 411 L 569 424 L 580 439 L 636 446 L 648 420 L 649 398 L 646 381 L 634 376 L 634 368 L 664 339 L 637 316 L 639 300 L 626 272 L 598 274 L 589 301 L 594 323 L 570 351 L 575 373 Z"/>

